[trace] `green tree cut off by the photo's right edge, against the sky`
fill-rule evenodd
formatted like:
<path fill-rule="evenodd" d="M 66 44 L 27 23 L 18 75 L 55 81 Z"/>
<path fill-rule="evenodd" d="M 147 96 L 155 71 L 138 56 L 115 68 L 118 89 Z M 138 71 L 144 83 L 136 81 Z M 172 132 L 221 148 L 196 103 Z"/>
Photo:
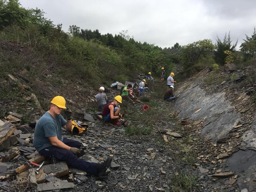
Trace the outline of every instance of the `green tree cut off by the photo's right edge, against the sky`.
<path fill-rule="evenodd" d="M 246 35 L 246 34 L 245 34 Z M 246 35 L 246 39 L 241 44 L 240 51 L 243 52 L 244 58 L 249 59 L 256 56 L 256 30 L 254 27 L 254 31 L 251 37 Z"/>

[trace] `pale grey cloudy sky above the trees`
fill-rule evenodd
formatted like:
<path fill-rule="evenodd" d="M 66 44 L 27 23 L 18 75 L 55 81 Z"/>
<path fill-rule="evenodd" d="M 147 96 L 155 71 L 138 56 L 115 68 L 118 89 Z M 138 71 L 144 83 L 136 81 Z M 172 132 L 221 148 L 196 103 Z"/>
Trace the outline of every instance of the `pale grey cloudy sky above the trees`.
<path fill-rule="evenodd" d="M 256 0 L 20 0 L 45 11 L 54 24 L 98 29 L 101 34 L 128 30 L 140 42 L 171 47 L 202 39 L 223 39 L 230 31 L 238 46 L 256 26 Z M 237 47 L 238 47 L 237 46 Z M 238 47 L 239 48 L 239 47 Z"/>

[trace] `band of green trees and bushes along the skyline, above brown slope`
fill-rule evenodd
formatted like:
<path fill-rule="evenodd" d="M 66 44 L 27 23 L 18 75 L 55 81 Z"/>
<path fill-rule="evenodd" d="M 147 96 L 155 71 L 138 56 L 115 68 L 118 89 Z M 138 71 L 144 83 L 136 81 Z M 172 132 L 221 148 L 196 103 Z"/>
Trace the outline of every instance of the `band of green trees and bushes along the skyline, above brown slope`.
<path fill-rule="evenodd" d="M 26 44 L 41 56 L 51 58 L 54 70 L 65 74 L 65 69 L 75 73 L 76 78 L 91 83 L 124 81 L 137 73 L 181 70 L 185 76 L 212 64 L 223 65 L 252 62 L 256 54 L 256 31 L 236 51 L 237 42 L 232 44 L 230 33 L 215 43 L 211 39 L 198 40 L 181 46 L 161 48 L 147 42 L 141 43 L 128 35 L 101 34 L 98 29 L 81 29 L 71 25 L 69 32 L 62 24 L 54 25 L 44 17 L 40 9 L 25 9 L 19 0 L 0 0 L 0 40 Z M 24 64 L 23 64 L 24 65 Z"/>

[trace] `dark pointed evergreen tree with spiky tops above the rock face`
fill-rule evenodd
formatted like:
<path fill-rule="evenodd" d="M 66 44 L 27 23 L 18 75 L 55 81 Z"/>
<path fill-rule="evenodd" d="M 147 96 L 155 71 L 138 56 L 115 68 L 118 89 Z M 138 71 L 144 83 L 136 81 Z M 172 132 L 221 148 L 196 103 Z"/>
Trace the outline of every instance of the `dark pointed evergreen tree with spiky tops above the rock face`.
<path fill-rule="evenodd" d="M 218 64 L 225 64 L 225 59 L 228 56 L 224 51 L 231 51 L 234 52 L 236 50 L 236 43 L 232 45 L 232 40 L 230 39 L 230 32 L 224 36 L 223 41 L 217 36 L 216 43 L 215 43 L 215 50 L 214 50 L 214 59 Z"/>

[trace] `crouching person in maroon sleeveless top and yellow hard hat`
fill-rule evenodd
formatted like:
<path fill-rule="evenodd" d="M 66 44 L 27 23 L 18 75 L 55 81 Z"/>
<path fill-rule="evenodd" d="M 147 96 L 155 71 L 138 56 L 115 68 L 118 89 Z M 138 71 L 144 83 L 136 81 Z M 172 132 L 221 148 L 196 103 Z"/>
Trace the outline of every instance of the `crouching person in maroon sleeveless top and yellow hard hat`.
<path fill-rule="evenodd" d="M 121 95 L 115 96 L 113 102 L 106 104 L 102 110 L 102 119 L 105 122 L 113 122 L 114 125 L 121 125 L 119 122 L 120 103 L 122 103 Z"/>

